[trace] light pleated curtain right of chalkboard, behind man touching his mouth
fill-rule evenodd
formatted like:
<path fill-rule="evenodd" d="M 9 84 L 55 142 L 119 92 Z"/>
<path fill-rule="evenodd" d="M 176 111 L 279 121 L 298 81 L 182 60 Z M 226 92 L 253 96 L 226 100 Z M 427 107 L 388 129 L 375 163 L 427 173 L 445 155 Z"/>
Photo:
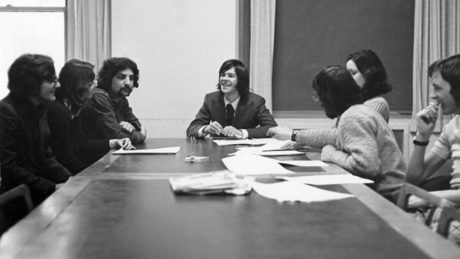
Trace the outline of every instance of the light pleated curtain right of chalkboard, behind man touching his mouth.
<path fill-rule="evenodd" d="M 430 101 L 428 66 L 457 53 L 460 53 L 460 1 L 415 0 L 411 128 L 415 129 L 417 112 Z M 439 111 L 435 130 L 441 130 L 452 117 Z"/>

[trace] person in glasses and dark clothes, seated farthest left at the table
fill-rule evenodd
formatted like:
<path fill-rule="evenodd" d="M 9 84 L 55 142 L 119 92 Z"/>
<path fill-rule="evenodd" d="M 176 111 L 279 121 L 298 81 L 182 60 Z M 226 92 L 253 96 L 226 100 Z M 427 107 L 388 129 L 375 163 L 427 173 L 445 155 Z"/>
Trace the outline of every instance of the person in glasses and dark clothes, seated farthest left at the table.
<path fill-rule="evenodd" d="M 9 67 L 9 94 L 0 101 L 0 193 L 26 184 L 37 205 L 72 176 L 48 146 L 44 103 L 59 86 L 49 56 L 23 54 Z"/>

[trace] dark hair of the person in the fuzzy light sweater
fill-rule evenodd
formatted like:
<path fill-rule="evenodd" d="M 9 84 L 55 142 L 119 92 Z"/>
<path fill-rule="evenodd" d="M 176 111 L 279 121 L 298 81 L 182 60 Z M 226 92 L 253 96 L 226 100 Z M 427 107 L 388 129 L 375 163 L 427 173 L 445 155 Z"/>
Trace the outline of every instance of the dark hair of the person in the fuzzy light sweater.
<path fill-rule="evenodd" d="M 361 104 L 361 88 L 351 73 L 342 66 L 321 69 L 311 82 L 327 117 L 335 118 L 354 104 Z"/>

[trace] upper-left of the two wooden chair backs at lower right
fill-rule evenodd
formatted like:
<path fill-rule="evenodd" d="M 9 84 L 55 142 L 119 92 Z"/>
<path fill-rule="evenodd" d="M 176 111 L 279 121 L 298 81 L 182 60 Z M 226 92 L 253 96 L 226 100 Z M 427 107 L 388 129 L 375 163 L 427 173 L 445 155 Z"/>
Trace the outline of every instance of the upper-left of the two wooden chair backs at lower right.
<path fill-rule="evenodd" d="M 429 193 L 426 190 L 423 190 L 419 187 L 416 187 L 410 183 L 403 183 L 401 188 L 399 189 L 399 196 L 396 202 L 396 205 L 403 210 L 408 209 L 408 200 L 409 196 L 414 195 L 417 196 L 423 200 L 425 200 L 428 204 L 434 205 L 439 208 L 445 208 L 445 207 L 454 207 L 454 204 L 451 201 L 448 201 L 447 199 L 438 197 L 434 194 Z M 426 225 L 429 225 L 431 223 L 431 220 L 433 219 L 435 209 L 431 209 L 428 217 L 426 218 Z"/>

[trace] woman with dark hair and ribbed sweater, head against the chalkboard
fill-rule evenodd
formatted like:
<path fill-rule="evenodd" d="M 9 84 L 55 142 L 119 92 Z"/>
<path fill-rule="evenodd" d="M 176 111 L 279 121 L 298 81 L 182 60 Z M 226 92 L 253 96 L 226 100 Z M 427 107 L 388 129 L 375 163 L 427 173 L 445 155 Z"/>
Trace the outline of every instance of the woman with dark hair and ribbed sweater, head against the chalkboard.
<path fill-rule="evenodd" d="M 391 91 L 393 87 L 387 81 L 380 58 L 370 49 L 361 49 L 349 54 L 346 60 L 346 68 L 361 87 L 364 104 L 376 110 L 388 122 L 389 105 L 381 94 Z"/>

